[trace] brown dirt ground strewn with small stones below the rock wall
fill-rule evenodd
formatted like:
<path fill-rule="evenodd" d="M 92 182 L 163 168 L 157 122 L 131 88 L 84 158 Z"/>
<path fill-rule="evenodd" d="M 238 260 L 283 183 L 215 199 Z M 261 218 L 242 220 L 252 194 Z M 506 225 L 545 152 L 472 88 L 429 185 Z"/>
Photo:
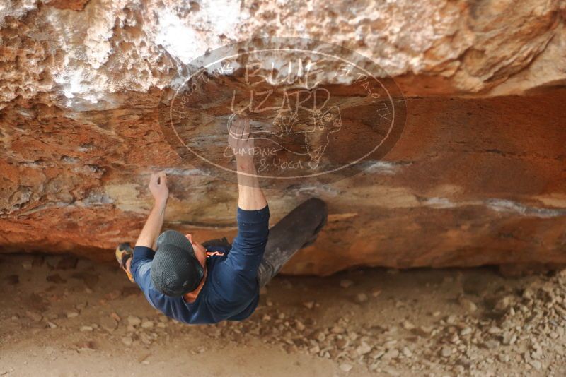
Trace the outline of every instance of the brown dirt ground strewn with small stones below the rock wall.
<path fill-rule="evenodd" d="M 277 277 L 248 321 L 207 326 L 69 256 L 0 256 L 0 289 L 0 376 L 566 376 L 566 273 Z"/>

